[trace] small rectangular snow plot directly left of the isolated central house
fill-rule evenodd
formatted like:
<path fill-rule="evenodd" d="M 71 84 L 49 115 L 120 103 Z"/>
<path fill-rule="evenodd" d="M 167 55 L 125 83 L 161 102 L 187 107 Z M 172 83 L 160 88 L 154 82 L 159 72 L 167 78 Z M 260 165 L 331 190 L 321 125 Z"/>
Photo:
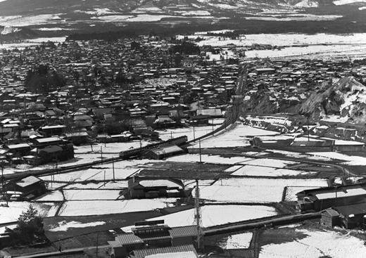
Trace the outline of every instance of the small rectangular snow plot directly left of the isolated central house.
<path fill-rule="evenodd" d="M 65 200 L 118 200 L 120 190 L 64 190 Z"/>

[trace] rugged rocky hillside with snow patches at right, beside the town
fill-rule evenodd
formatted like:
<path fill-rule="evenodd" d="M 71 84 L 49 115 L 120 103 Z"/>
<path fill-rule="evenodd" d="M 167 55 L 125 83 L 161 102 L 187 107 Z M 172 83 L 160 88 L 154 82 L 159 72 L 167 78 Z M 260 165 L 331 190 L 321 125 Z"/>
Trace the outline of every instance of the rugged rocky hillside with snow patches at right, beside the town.
<path fill-rule="evenodd" d="M 302 113 L 310 119 L 350 124 L 366 123 L 366 86 L 355 77 L 324 82 L 306 96 L 258 91 L 247 97 L 244 112 L 254 114 Z"/>

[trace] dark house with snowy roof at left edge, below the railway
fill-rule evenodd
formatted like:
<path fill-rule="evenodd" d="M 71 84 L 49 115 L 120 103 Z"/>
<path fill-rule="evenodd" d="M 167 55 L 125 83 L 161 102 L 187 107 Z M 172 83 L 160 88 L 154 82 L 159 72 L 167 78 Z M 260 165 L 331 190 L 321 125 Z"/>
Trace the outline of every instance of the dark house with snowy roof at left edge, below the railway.
<path fill-rule="evenodd" d="M 14 192 L 19 193 L 19 199 L 25 200 L 32 200 L 46 193 L 44 181 L 36 176 L 27 176 L 19 181 L 10 181 L 6 183 L 4 188 L 10 200 Z"/>

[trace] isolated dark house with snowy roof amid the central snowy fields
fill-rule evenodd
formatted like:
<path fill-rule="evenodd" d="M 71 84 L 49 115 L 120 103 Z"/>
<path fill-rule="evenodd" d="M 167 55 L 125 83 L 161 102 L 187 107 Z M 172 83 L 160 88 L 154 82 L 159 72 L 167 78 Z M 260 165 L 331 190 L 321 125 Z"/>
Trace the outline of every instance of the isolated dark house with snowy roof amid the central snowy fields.
<path fill-rule="evenodd" d="M 149 179 L 134 176 L 128 181 L 130 198 L 184 198 L 189 196 L 184 191 L 184 184 L 178 179 Z"/>

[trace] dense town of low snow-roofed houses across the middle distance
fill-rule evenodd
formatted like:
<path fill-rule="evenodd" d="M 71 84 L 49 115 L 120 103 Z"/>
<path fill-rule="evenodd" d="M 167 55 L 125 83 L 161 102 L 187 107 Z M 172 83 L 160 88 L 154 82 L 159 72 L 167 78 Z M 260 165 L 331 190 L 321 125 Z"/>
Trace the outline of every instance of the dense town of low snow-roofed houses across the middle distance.
<path fill-rule="evenodd" d="M 223 117 L 241 81 L 239 63 L 244 59 L 208 60 L 206 53 L 212 46 L 201 47 L 198 55 L 171 53 L 175 44 L 179 42 L 141 37 L 139 41 L 46 42 L 21 51 L 2 51 L 0 158 L 39 165 L 49 162 L 39 158 L 42 152 L 51 153 L 52 160 L 72 157 L 67 141 L 156 140 L 156 129 L 210 124 Z M 219 51 L 227 49 L 241 51 L 229 46 Z M 181 62 L 175 62 L 178 59 Z M 351 60 L 247 63 L 247 98 L 272 91 L 282 93 L 282 101 L 298 103 L 329 78 L 366 76 L 365 67 Z M 48 93 L 37 87 L 27 92 L 29 71 L 37 71 L 39 64 L 50 74 L 61 75 L 65 86 Z M 37 138 L 42 137 L 39 143 Z"/>

